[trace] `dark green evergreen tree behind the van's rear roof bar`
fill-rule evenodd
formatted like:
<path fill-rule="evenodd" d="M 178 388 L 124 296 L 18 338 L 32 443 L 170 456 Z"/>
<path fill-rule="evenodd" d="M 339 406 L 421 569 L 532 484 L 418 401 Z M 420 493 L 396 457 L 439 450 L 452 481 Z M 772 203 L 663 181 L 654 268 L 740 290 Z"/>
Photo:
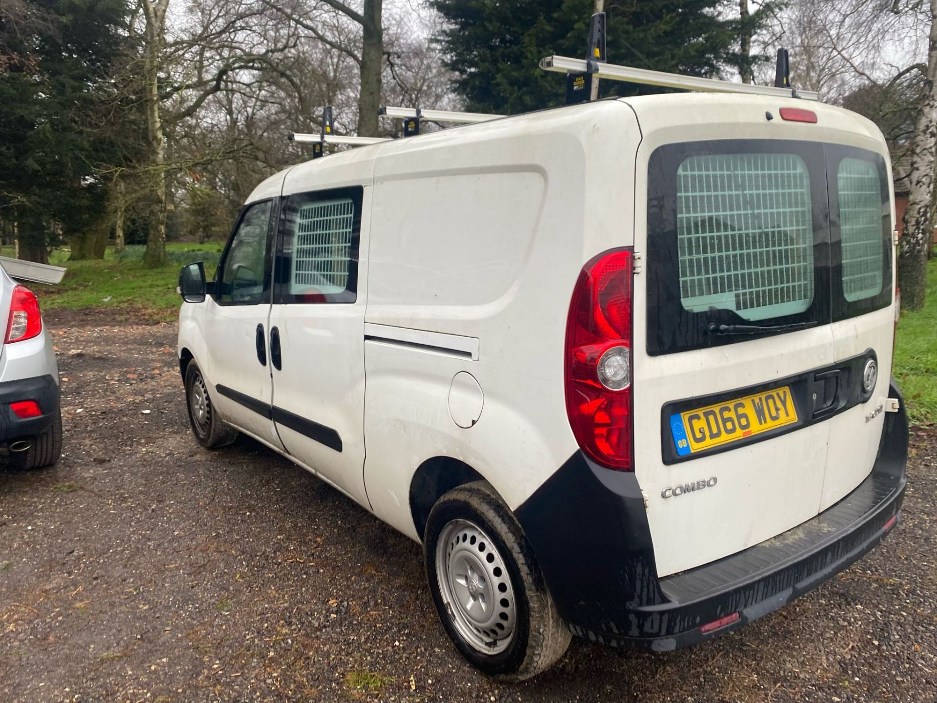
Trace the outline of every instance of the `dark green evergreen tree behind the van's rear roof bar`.
<path fill-rule="evenodd" d="M 563 104 L 565 82 L 543 71 L 549 54 L 585 58 L 592 0 L 432 0 L 450 23 L 442 37 L 466 109 L 516 113 Z M 607 7 L 610 63 L 718 76 L 748 61 L 740 39 L 766 19 L 761 7 L 744 21 L 721 16 L 724 0 L 636 0 Z M 754 56 L 753 61 L 762 57 Z M 634 95 L 639 86 L 602 81 L 601 97 Z"/>

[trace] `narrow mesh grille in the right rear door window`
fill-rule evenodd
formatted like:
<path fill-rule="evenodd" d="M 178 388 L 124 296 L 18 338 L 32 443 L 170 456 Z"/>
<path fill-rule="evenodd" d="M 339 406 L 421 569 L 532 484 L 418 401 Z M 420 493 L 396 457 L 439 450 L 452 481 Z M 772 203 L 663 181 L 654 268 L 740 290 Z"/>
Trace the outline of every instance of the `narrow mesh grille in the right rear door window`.
<path fill-rule="evenodd" d="M 882 182 L 869 161 L 844 158 L 836 174 L 840 193 L 842 292 L 853 302 L 882 291 Z"/>

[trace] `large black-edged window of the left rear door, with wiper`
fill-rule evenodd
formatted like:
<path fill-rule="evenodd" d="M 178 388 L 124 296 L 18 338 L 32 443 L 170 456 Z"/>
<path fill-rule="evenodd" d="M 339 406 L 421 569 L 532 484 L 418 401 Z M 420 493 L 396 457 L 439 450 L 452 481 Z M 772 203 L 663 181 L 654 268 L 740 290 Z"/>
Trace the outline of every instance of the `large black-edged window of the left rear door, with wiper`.
<path fill-rule="evenodd" d="M 651 155 L 647 352 L 731 344 L 721 324 L 830 322 L 823 148 L 667 144 Z"/>

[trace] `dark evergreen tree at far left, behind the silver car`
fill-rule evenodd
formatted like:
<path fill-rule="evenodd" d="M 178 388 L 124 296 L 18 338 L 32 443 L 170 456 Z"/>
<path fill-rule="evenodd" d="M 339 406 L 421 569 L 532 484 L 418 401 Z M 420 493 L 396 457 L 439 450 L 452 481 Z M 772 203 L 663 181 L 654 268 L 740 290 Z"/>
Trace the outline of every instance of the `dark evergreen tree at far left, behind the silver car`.
<path fill-rule="evenodd" d="M 106 187 L 95 165 L 111 135 L 90 128 L 120 48 L 126 0 L 9 0 L 0 10 L 0 217 L 20 255 L 96 225 Z M 14 14 L 15 13 L 15 14 Z"/>

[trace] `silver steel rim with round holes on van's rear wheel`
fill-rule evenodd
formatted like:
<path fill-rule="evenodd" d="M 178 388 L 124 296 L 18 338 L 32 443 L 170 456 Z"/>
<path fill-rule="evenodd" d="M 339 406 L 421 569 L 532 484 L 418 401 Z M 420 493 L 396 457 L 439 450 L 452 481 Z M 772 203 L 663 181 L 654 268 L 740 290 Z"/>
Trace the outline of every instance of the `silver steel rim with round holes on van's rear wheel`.
<path fill-rule="evenodd" d="M 459 635 L 475 650 L 498 654 L 517 620 L 511 577 L 498 547 L 478 525 L 456 519 L 439 533 L 436 580 Z"/>

